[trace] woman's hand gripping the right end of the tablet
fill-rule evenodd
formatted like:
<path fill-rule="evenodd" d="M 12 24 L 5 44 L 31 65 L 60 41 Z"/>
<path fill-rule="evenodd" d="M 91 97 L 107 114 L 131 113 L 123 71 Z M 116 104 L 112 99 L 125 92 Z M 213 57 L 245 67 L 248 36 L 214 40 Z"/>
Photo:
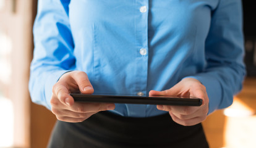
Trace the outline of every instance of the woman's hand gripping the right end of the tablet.
<path fill-rule="evenodd" d="M 200 107 L 157 105 L 157 109 L 169 112 L 176 123 L 192 126 L 207 118 L 209 99 L 205 86 L 194 78 L 184 78 L 182 81 L 165 91 L 150 91 L 149 95 L 160 96 L 190 96 L 203 99 Z"/>

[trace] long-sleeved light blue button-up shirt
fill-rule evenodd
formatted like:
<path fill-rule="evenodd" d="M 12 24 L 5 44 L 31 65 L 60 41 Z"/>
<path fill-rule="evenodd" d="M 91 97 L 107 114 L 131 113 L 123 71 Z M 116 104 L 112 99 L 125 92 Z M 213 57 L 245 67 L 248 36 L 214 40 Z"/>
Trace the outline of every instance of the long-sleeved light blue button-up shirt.
<path fill-rule="evenodd" d="M 209 113 L 232 104 L 245 75 L 240 0 L 40 0 L 33 33 L 30 94 L 48 109 L 53 84 L 70 70 L 86 72 L 95 92 L 116 94 L 196 78 Z M 164 113 L 136 104 L 112 112 Z"/>

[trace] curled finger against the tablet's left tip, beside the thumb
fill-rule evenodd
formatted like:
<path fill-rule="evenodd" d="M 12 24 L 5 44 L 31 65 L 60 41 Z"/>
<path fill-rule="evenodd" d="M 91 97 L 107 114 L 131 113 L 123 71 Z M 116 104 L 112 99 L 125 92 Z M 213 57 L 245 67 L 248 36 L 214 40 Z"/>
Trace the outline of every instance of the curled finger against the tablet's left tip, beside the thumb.
<path fill-rule="evenodd" d="M 53 94 L 53 97 L 57 97 L 66 106 L 74 104 L 74 99 L 69 95 L 69 89 L 64 83 L 59 82 L 54 84 Z"/>

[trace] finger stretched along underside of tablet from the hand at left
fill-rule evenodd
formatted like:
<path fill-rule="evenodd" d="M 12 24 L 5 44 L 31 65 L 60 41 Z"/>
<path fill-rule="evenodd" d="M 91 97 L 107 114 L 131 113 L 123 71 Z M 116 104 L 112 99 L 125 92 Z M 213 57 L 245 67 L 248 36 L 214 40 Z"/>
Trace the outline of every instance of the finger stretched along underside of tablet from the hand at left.
<path fill-rule="evenodd" d="M 69 110 L 78 113 L 100 112 L 105 110 L 114 110 L 115 104 L 108 103 L 77 103 L 75 102 Z"/>

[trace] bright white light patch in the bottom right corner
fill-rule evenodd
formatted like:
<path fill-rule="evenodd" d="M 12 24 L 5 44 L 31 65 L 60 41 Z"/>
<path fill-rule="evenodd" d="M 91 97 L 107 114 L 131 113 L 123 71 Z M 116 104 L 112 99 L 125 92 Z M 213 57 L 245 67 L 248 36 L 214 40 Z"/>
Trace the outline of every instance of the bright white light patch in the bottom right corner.
<path fill-rule="evenodd" d="M 255 110 L 242 102 L 241 99 L 235 98 L 233 105 L 228 109 L 224 109 L 223 113 L 226 115 L 224 146 L 232 148 L 255 147 Z"/>

